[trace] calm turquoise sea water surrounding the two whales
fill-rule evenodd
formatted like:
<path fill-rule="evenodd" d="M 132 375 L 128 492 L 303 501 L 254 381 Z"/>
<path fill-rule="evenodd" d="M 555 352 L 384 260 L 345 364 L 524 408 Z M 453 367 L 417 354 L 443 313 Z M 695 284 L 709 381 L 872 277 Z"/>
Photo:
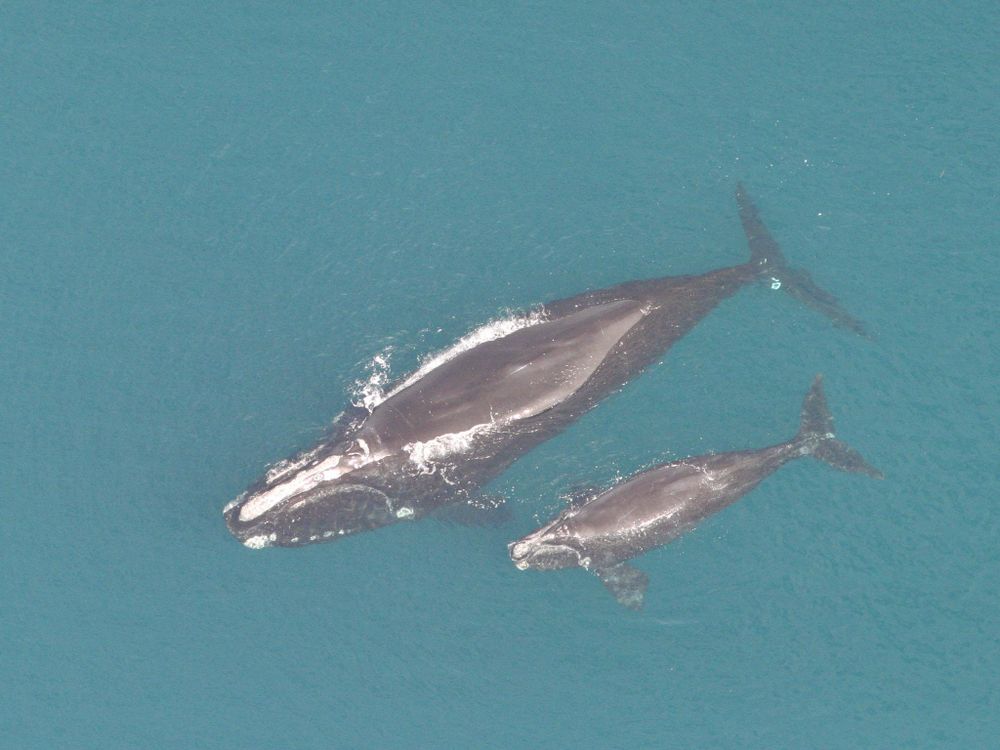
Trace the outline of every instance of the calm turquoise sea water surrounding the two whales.
<path fill-rule="evenodd" d="M 0 8 L 5 747 L 994 745 L 995 3 L 161 5 Z M 874 342 L 747 289 L 507 526 L 228 535 L 376 354 L 741 262 L 737 180 Z M 637 615 L 509 563 L 570 485 L 789 436 L 816 372 L 884 482 L 789 465 Z"/>

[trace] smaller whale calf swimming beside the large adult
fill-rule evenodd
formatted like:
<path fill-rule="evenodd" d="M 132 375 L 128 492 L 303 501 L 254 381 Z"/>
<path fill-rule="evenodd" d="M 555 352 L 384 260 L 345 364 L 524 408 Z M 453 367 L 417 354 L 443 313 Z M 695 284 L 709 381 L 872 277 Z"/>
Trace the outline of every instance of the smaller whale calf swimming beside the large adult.
<path fill-rule="evenodd" d="M 672 542 L 802 456 L 882 478 L 857 451 L 837 440 L 817 375 L 802 405 L 799 432 L 791 440 L 660 464 L 610 489 L 581 493 L 557 518 L 511 542 L 511 561 L 520 570 L 590 570 L 619 603 L 639 609 L 649 579 L 626 560 Z"/>

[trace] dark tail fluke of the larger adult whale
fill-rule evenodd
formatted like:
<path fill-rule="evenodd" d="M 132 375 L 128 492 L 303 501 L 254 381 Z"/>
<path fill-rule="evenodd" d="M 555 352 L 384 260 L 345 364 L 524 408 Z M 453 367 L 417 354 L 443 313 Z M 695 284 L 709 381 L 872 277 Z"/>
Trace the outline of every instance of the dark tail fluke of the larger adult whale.
<path fill-rule="evenodd" d="M 837 298 L 816 286 L 809 274 L 785 262 L 781 248 L 767 231 L 742 183 L 736 184 L 740 221 L 750 244 L 750 262 L 760 267 L 761 276 L 771 279 L 773 289 L 784 289 L 797 300 L 826 315 L 834 325 L 868 337 L 864 324 L 837 304 Z"/>

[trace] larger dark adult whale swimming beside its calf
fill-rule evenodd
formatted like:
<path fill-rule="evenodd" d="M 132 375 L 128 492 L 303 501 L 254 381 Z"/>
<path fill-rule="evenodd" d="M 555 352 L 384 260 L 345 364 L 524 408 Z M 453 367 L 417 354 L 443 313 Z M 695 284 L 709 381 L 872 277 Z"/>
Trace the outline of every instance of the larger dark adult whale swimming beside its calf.
<path fill-rule="evenodd" d="M 273 466 L 224 509 L 230 531 L 252 548 L 298 546 L 477 503 L 483 484 L 757 279 L 864 333 L 808 274 L 786 265 L 741 185 L 736 199 L 748 262 L 584 292 L 466 337 L 373 408 L 348 409 L 320 444 Z"/>

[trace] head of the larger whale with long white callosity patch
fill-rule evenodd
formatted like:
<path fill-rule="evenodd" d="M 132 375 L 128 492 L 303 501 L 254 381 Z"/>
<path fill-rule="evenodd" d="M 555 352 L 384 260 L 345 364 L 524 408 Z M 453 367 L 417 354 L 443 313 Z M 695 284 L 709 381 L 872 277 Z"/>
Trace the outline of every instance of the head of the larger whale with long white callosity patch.
<path fill-rule="evenodd" d="M 223 510 L 233 536 L 251 549 L 330 542 L 408 518 L 358 469 L 377 460 L 366 446 L 312 451 L 275 465 Z M 364 473 L 365 478 L 359 475 Z"/>

